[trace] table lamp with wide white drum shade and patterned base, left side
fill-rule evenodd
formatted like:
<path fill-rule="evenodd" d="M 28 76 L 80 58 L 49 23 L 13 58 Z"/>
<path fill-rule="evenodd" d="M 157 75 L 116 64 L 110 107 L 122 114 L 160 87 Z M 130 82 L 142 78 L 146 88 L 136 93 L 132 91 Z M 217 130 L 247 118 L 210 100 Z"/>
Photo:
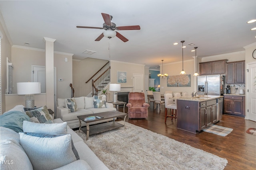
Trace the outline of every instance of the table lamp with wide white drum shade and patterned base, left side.
<path fill-rule="evenodd" d="M 17 94 L 25 94 L 25 107 L 34 108 L 35 100 L 34 94 L 41 93 L 40 82 L 20 82 L 17 83 Z"/>

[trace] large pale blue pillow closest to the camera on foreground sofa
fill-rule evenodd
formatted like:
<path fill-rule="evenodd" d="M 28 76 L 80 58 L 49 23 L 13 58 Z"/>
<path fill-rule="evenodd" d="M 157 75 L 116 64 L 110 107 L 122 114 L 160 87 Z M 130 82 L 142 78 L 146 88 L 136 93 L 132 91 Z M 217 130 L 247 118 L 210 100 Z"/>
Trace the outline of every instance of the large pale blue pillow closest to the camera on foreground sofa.
<path fill-rule="evenodd" d="M 72 150 L 70 134 L 46 135 L 30 132 L 19 134 L 20 144 L 36 170 L 56 169 L 79 159 Z"/>

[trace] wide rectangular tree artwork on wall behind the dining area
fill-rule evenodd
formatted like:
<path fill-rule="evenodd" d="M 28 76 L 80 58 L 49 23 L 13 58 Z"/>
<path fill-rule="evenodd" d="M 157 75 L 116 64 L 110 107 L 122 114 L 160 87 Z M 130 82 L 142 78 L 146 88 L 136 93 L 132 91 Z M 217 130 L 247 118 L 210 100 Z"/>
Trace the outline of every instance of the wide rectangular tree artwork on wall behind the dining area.
<path fill-rule="evenodd" d="M 167 87 L 190 87 L 190 86 L 191 86 L 190 74 L 167 77 Z"/>

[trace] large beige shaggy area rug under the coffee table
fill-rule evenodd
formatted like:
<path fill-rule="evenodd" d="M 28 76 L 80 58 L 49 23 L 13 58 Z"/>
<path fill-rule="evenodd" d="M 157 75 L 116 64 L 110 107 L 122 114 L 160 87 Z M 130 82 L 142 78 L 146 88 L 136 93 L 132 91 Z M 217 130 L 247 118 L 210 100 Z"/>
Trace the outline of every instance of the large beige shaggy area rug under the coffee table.
<path fill-rule="evenodd" d="M 124 123 L 119 121 L 119 123 Z M 110 170 L 223 170 L 225 158 L 126 122 L 97 135 L 75 131 Z"/>

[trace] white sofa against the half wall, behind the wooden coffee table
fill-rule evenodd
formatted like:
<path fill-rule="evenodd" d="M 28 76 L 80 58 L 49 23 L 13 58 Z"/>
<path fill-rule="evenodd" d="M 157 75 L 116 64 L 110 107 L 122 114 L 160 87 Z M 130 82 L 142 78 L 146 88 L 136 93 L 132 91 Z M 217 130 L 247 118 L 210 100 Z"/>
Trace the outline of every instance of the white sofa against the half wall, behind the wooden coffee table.
<path fill-rule="evenodd" d="M 62 119 L 62 121 L 66 121 L 68 126 L 72 129 L 79 127 L 79 120 L 77 116 L 80 115 L 88 115 L 93 113 L 101 113 L 106 111 L 116 111 L 116 108 L 111 103 L 106 102 L 106 108 L 94 108 L 94 97 L 78 97 L 74 98 L 77 105 L 77 111 L 69 113 L 68 108 L 65 104 L 65 99 L 58 98 L 57 99 L 57 109 L 56 109 L 56 118 Z M 113 119 L 106 119 L 103 121 L 97 121 L 96 123 L 102 123 L 106 121 L 112 121 Z M 94 124 L 92 122 L 90 124 Z M 86 123 L 82 122 L 82 126 L 86 126 Z"/>

